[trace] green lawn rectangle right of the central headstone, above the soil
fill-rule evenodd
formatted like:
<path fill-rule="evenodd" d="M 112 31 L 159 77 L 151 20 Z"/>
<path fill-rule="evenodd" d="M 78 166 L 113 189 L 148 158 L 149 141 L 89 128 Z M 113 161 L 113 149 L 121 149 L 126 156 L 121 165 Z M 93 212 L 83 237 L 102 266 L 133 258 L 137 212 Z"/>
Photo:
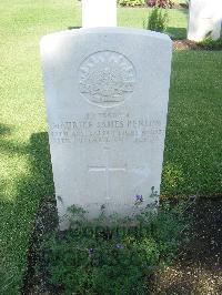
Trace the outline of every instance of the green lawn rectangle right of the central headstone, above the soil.
<path fill-rule="evenodd" d="M 162 194 L 222 193 L 222 51 L 173 54 Z"/>

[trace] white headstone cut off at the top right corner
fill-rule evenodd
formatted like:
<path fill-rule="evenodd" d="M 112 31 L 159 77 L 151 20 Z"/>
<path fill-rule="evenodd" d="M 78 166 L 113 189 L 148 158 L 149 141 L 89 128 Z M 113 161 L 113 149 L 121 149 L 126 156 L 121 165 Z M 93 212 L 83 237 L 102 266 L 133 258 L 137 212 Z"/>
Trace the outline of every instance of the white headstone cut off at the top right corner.
<path fill-rule="evenodd" d="M 188 39 L 202 41 L 209 33 L 221 37 L 222 0 L 191 0 Z"/>

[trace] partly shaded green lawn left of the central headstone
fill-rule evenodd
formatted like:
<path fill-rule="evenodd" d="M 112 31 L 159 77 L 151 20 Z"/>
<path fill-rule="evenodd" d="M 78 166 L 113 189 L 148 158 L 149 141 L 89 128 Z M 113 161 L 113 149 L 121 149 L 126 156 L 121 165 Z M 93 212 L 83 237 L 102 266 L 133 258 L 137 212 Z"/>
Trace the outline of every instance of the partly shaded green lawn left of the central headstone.
<path fill-rule="evenodd" d="M 77 13 L 78 12 L 78 13 Z M 53 193 L 39 40 L 80 23 L 74 2 L 0 2 L 0 294 L 18 294 L 33 217 Z"/>

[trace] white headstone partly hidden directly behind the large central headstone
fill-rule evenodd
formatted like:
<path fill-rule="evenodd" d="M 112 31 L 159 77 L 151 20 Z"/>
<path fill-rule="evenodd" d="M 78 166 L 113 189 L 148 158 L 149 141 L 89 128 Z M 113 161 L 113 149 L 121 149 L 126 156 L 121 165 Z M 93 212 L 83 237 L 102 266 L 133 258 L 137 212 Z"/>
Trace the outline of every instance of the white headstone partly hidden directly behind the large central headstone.
<path fill-rule="evenodd" d="M 117 27 L 117 0 L 82 0 L 82 27 Z"/>

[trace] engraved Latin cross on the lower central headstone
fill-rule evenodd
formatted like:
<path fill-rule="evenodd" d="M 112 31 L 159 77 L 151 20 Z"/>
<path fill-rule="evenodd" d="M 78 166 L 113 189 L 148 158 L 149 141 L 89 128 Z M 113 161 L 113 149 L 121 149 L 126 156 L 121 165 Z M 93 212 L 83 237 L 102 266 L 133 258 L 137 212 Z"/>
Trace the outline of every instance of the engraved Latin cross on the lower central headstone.
<path fill-rule="evenodd" d="M 110 161 L 109 161 L 109 148 L 104 149 L 105 154 L 107 154 L 107 164 L 105 165 L 97 165 L 97 166 L 89 166 L 88 171 L 90 173 L 93 172 L 102 172 L 105 173 L 105 200 L 110 200 L 110 173 L 111 172 L 117 172 L 117 171 L 122 171 L 122 172 L 127 172 L 127 165 L 124 166 L 111 166 L 110 165 Z"/>

